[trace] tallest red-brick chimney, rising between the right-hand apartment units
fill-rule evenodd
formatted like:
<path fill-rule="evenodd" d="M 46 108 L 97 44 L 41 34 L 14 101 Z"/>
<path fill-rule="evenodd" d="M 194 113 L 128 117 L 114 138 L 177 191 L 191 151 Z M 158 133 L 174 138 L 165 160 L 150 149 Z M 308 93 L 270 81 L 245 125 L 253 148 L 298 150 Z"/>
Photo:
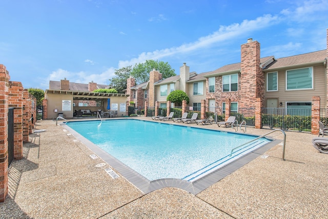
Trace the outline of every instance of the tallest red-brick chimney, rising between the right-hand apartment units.
<path fill-rule="evenodd" d="M 264 100 L 264 73 L 260 68 L 260 43 L 252 38 L 241 45 L 239 106 L 255 106 L 256 98 Z M 264 101 L 262 101 L 264 104 Z"/>

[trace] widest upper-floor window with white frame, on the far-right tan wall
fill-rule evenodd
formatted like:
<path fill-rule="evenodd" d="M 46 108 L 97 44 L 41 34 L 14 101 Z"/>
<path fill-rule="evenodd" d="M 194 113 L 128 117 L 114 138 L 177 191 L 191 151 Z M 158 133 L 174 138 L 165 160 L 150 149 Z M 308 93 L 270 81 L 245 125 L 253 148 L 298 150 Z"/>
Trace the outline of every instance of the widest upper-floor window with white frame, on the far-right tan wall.
<path fill-rule="evenodd" d="M 313 88 L 313 71 L 310 68 L 300 68 L 286 71 L 286 90 L 301 90 Z"/>

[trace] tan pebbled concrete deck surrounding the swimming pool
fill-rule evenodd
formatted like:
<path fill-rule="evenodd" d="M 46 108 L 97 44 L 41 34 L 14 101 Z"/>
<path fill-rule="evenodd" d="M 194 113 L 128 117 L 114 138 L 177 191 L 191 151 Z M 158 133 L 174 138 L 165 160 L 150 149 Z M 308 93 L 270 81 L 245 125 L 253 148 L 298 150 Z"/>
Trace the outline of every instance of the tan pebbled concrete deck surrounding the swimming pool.
<path fill-rule="evenodd" d="M 215 124 L 179 125 L 234 131 Z M 38 121 L 35 128 L 46 131 L 31 134 L 24 158 L 13 162 L 1 218 L 328 217 L 328 155 L 312 146 L 316 135 L 287 131 L 286 161 L 276 145 L 263 153 L 267 158 L 255 158 L 197 195 L 178 188 L 145 194 L 108 164 L 96 167 L 104 161 L 91 158 L 94 152 L 56 121 Z M 269 131 L 247 127 L 249 134 Z M 281 132 L 270 136 L 283 138 Z M 108 168 L 120 177 L 112 178 Z"/>

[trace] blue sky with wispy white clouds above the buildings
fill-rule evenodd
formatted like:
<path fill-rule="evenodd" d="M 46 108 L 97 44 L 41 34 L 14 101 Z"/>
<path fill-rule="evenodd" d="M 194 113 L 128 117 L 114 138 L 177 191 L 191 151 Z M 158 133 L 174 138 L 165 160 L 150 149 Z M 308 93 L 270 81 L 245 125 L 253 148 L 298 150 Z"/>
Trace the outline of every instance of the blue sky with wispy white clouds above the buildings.
<path fill-rule="evenodd" d="M 115 69 L 154 59 L 175 73 L 326 49 L 328 1 L 1 0 L 0 64 L 24 88 L 49 81 L 109 84 Z"/>

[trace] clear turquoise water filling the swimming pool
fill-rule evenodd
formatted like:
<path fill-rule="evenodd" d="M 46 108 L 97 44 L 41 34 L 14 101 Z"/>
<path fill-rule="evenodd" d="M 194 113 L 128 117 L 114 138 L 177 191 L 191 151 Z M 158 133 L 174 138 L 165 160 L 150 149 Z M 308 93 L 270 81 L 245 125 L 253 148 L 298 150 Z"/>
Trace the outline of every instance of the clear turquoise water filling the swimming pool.
<path fill-rule="evenodd" d="M 67 125 L 148 180 L 197 180 L 270 142 L 256 136 L 140 120 L 69 122 Z"/>

